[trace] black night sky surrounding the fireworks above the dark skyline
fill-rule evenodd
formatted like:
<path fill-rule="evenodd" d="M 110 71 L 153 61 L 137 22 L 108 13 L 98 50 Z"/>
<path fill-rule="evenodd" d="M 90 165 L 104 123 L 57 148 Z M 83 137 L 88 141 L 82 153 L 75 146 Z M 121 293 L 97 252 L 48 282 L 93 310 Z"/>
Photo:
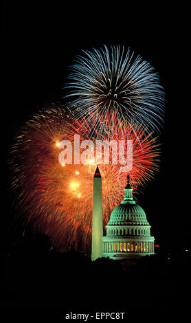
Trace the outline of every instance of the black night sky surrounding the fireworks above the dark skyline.
<path fill-rule="evenodd" d="M 12 213 L 7 190 L 10 178 L 7 158 L 12 137 L 39 107 L 62 98 L 67 65 L 80 49 L 121 44 L 130 46 L 155 67 L 166 91 L 166 122 L 159 139 L 163 150 L 161 171 L 144 189 L 139 204 L 147 214 L 157 243 L 169 249 L 178 235 L 184 246 L 190 234 L 190 57 L 186 10 L 175 7 L 167 10 L 161 2 L 158 8 L 144 11 L 115 8 L 111 4 L 108 8 L 101 5 L 86 8 L 76 3 L 52 6 L 43 5 L 42 1 L 41 5 L 21 2 L 18 5 L 7 1 L 2 14 L 3 243 Z"/>

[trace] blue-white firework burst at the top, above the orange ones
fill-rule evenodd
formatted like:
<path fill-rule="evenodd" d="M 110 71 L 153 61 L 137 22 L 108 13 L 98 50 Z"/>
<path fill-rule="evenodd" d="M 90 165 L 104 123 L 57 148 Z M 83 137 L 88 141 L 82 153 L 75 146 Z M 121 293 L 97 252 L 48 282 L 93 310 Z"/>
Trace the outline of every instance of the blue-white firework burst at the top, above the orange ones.
<path fill-rule="evenodd" d="M 65 85 L 76 118 L 99 111 L 104 119 L 109 111 L 117 111 L 118 118 L 160 133 L 164 90 L 150 63 L 120 45 L 82 52 L 69 67 Z"/>

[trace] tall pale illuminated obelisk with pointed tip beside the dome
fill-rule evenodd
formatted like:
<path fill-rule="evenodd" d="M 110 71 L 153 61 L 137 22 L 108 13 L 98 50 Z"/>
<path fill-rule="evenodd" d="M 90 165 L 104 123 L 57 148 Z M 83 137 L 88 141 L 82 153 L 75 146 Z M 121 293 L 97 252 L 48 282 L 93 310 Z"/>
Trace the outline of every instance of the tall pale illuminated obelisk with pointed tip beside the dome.
<path fill-rule="evenodd" d="M 103 216 L 102 177 L 97 166 L 93 177 L 93 220 L 92 220 L 91 260 L 102 257 Z"/>

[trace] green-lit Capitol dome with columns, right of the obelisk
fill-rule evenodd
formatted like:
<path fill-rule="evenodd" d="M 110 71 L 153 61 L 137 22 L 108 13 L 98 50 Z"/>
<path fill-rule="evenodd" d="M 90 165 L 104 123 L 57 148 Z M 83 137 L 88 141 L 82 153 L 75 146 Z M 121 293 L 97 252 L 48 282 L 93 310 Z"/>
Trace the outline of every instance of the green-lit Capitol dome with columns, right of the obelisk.
<path fill-rule="evenodd" d="M 133 200 L 129 175 L 124 188 L 124 200 L 111 212 L 102 238 L 102 256 L 111 259 L 140 258 L 155 254 L 154 236 L 144 210 Z"/>

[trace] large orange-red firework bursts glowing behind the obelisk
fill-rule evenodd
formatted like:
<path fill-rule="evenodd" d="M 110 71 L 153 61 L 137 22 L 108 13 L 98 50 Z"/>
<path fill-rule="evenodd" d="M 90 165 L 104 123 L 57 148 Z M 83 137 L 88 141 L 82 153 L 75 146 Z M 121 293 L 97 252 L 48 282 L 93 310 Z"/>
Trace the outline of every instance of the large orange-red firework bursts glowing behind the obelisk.
<path fill-rule="evenodd" d="M 96 129 L 99 129 L 97 135 Z M 93 143 L 95 140 L 132 140 L 133 169 L 130 174 L 134 188 L 153 178 L 158 169 L 159 148 L 157 138 L 145 135 L 142 126 L 126 125 L 115 114 L 106 115 L 105 120 L 99 115 L 94 115 L 93 119 L 91 115 L 89 119 L 74 120 L 67 110 L 50 107 L 23 126 L 10 158 L 14 172 L 12 189 L 16 193 L 16 207 L 20 213 L 22 210 L 23 223 L 30 222 L 34 228 L 49 235 L 57 249 L 65 245 L 88 254 L 96 159 L 88 155 L 86 164 L 58 162 L 60 141 L 69 140 L 74 148 L 75 134 L 80 135 L 80 143 L 82 140 Z M 104 225 L 113 208 L 122 201 L 127 174 L 120 172 L 119 163 L 111 163 L 111 157 L 110 152 L 109 164 L 100 164 Z"/>

